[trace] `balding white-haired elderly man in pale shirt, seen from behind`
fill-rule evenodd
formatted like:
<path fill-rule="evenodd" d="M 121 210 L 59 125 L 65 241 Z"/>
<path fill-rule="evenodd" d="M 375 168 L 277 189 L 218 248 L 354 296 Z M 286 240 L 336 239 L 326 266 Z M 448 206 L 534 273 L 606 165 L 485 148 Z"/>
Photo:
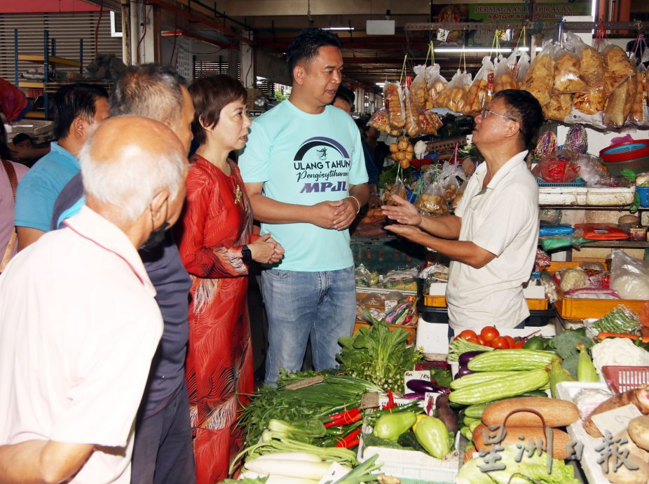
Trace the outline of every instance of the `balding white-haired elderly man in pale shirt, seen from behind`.
<path fill-rule="evenodd" d="M 80 161 L 86 206 L 0 276 L 2 483 L 130 481 L 163 330 L 137 249 L 178 219 L 187 161 L 138 116 L 102 123 Z"/>

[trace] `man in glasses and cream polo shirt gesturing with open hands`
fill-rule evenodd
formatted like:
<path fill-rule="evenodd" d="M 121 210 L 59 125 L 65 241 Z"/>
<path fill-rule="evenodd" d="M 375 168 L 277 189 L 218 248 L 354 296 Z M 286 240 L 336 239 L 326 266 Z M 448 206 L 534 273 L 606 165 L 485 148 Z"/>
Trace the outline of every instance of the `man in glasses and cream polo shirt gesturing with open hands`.
<path fill-rule="evenodd" d="M 524 325 L 522 283 L 538 243 L 538 185 L 524 161 L 543 123 L 538 101 L 524 90 L 503 90 L 475 122 L 473 142 L 485 163 L 454 215 L 421 217 L 397 196 L 397 206 L 383 207 L 399 222 L 388 230 L 451 258 L 446 302 L 456 331 Z"/>

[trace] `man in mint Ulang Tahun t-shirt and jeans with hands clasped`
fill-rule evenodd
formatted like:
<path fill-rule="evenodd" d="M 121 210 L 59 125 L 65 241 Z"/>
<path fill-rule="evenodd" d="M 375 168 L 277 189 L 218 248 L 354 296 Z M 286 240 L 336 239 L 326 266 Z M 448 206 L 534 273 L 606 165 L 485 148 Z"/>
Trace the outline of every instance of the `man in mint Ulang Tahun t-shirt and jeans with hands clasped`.
<path fill-rule="evenodd" d="M 336 366 L 338 339 L 355 321 L 348 227 L 367 203 L 360 133 L 329 106 L 341 83 L 338 37 L 306 29 L 287 50 L 291 97 L 252 123 L 239 159 L 262 233 L 284 259 L 261 276 L 268 315 L 266 384 L 302 365 L 310 337 L 315 370 Z"/>

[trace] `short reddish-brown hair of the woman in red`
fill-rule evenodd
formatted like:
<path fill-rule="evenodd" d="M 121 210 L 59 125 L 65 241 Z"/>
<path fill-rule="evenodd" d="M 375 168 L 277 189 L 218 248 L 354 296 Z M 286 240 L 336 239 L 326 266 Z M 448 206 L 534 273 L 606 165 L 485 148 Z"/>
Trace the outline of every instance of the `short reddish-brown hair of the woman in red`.
<path fill-rule="evenodd" d="M 242 83 L 231 76 L 199 77 L 189 84 L 189 95 L 194 103 L 194 120 L 191 132 L 198 144 L 205 144 L 205 128 L 214 128 L 219 123 L 221 110 L 231 102 L 245 102 L 247 90 Z"/>

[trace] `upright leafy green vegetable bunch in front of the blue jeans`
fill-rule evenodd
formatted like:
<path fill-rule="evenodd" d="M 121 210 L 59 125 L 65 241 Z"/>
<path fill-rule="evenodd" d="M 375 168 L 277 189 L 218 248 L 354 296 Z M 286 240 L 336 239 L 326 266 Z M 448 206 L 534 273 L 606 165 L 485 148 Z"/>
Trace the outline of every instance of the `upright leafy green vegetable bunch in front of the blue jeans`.
<path fill-rule="evenodd" d="M 343 336 L 338 342 L 343 349 L 336 356 L 341 370 L 352 377 L 367 379 L 381 387 L 401 393 L 404 372 L 412 370 L 421 354 L 407 344 L 408 333 L 397 328 L 390 331 L 378 321 L 369 328 L 360 328 L 353 336 Z"/>

